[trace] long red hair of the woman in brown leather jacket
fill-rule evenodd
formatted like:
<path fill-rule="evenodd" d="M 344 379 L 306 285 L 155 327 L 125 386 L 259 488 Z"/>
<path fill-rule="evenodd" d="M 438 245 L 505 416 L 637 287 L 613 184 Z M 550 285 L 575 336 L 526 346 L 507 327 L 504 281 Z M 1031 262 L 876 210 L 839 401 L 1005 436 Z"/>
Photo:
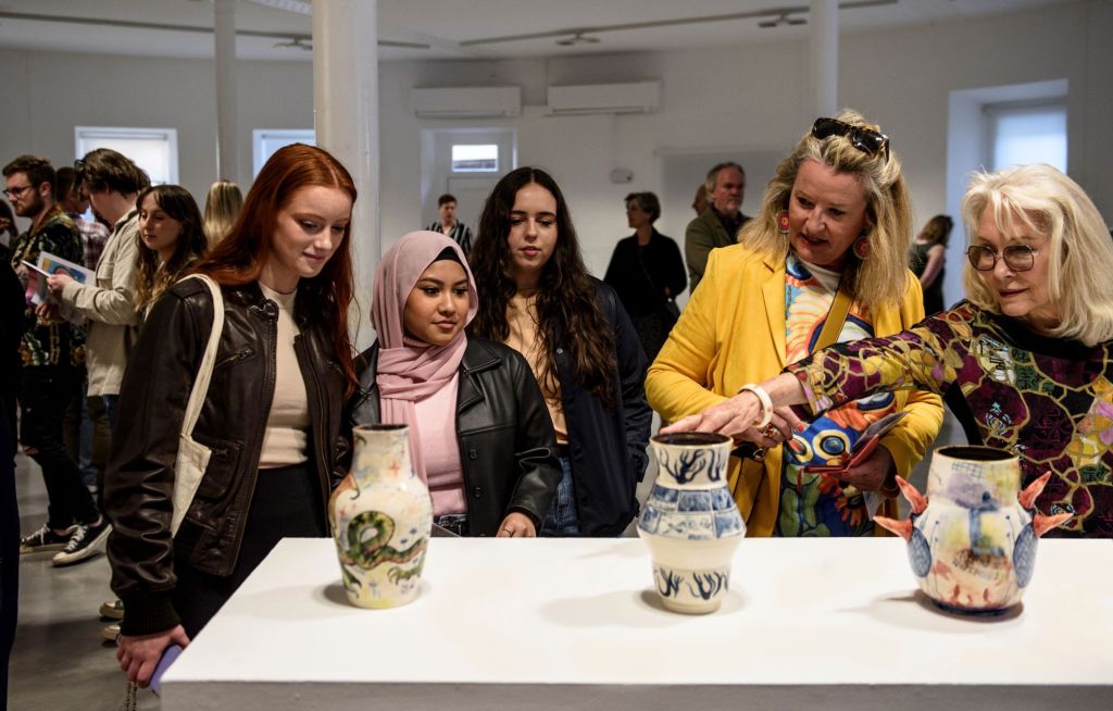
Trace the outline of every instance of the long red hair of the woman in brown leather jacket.
<path fill-rule="evenodd" d="M 355 204 L 355 182 L 347 169 L 327 151 L 304 144 L 275 151 L 244 199 L 228 236 L 213 248 L 194 271 L 207 274 L 217 284 L 239 286 L 259 278 L 270 254 L 278 213 L 294 194 L 305 187 L 338 188 Z M 344 238 L 321 274 L 303 278 L 297 287 L 297 309 L 314 320 L 324 319 L 336 358 L 348 381 L 348 394 L 355 387 L 352 342 L 348 338 L 347 309 L 352 303 L 352 223 Z"/>

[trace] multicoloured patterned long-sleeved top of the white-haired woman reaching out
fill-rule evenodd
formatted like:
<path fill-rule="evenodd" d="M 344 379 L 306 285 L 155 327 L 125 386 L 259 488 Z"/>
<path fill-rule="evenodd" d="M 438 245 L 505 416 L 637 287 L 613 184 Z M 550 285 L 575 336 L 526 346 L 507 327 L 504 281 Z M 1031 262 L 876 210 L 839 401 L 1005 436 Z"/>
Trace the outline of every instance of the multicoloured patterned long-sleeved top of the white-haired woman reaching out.
<path fill-rule="evenodd" d="M 1020 457 L 1022 486 L 1051 471 L 1036 507 L 1074 516 L 1047 535 L 1113 537 L 1113 342 L 1041 336 L 969 302 L 887 338 L 790 365 L 812 413 L 871 393 L 939 393 L 971 444 Z"/>

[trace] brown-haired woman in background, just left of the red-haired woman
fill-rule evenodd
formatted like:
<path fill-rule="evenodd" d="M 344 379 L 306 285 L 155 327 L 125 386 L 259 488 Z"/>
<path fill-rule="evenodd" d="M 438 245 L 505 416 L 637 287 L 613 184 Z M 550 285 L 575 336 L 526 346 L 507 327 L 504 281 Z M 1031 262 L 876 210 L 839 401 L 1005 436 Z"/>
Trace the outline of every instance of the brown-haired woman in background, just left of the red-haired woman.
<path fill-rule="evenodd" d="M 201 211 L 178 185 L 152 186 L 136 199 L 139 256 L 136 263 L 136 310 L 146 315 L 162 292 L 205 256 L 208 239 Z"/>

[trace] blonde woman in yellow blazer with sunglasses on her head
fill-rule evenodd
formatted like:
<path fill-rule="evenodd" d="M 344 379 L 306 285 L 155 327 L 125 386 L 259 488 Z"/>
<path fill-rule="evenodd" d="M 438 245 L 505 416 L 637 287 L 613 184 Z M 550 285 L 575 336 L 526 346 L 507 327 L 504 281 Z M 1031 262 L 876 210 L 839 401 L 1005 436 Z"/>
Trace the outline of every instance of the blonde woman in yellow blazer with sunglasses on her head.
<path fill-rule="evenodd" d="M 854 111 L 817 119 L 777 167 L 740 244 L 711 251 L 702 285 L 649 368 L 650 405 L 688 423 L 681 418 L 748 392 L 817 344 L 908 328 L 924 317 L 907 268 L 910 236 L 888 137 Z M 861 433 L 893 413 L 907 414 L 867 456 L 843 466 Z M 779 408 L 730 431 L 749 443 L 739 453 L 750 456 L 731 457 L 729 468 L 747 534 L 884 534 L 873 515 L 895 515 L 895 477 L 923 458 L 942 422 L 938 395 L 913 389 L 849 402 L 805 429 Z"/>

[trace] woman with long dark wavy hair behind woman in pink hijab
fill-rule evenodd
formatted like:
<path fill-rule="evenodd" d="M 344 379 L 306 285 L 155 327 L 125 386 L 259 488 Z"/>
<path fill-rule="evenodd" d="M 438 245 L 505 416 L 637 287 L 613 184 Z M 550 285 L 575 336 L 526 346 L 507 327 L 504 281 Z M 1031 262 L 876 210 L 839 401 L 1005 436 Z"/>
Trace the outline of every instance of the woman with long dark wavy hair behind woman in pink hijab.
<path fill-rule="evenodd" d="M 647 463 L 646 355 L 613 289 L 588 274 L 555 180 L 539 168 L 503 177 L 470 259 L 471 332 L 525 356 L 556 429 L 563 476 L 541 535 L 620 535 Z"/>

